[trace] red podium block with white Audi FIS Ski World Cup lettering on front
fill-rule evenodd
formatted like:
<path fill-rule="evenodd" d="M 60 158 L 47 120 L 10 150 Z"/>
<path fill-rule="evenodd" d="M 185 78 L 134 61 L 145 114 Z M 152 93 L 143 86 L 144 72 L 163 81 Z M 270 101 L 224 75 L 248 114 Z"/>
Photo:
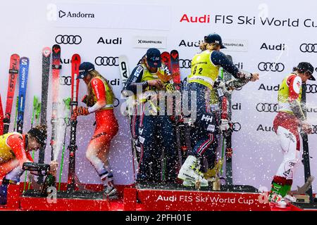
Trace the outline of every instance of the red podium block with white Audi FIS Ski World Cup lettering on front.
<path fill-rule="evenodd" d="M 196 190 L 180 184 L 137 184 L 137 200 L 144 210 L 170 211 L 270 211 L 268 203 L 253 186 L 221 186 Z"/>

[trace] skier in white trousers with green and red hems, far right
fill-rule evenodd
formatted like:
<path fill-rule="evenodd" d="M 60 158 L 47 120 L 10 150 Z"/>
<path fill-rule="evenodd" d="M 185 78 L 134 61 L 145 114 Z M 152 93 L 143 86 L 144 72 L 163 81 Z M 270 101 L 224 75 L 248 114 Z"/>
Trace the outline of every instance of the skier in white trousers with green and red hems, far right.
<path fill-rule="evenodd" d="M 288 203 L 296 201 L 289 195 L 291 190 L 294 169 L 300 158 L 299 127 L 310 134 L 311 126 L 306 121 L 302 108 L 302 83 L 313 77 L 311 63 L 302 62 L 293 68 L 280 84 L 278 90 L 278 115 L 273 121 L 273 129 L 278 135 L 282 148 L 283 160 L 272 181 L 271 193 L 268 197 L 271 206 L 285 208 Z"/>

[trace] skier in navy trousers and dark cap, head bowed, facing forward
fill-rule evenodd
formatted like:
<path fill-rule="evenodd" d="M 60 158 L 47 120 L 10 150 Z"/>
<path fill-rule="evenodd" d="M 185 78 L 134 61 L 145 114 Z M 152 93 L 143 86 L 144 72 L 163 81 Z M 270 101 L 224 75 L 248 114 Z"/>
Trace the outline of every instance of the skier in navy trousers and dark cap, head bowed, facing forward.
<path fill-rule="evenodd" d="M 131 120 L 132 136 L 137 136 L 139 151 L 137 182 L 157 184 L 161 181 L 163 151 L 166 158 L 166 181 L 175 183 L 176 180 L 177 149 L 173 124 L 169 115 L 162 113 L 161 101 L 163 105 L 166 105 L 166 101 L 157 98 L 159 91 L 166 91 L 171 78 L 168 68 L 161 63 L 159 49 L 148 49 L 140 65 L 132 70 L 123 89 L 126 96 L 137 96 L 138 102 Z M 160 107 L 157 107 L 157 102 L 160 102 Z"/>

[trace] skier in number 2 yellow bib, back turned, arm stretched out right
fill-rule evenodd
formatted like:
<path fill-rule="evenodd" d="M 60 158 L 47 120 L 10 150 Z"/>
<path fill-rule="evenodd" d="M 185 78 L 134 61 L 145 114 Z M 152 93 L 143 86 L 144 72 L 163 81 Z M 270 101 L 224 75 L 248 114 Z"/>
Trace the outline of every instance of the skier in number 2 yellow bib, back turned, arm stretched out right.
<path fill-rule="evenodd" d="M 259 79 L 257 73 L 240 71 L 224 53 L 220 52 L 225 46 L 218 34 L 204 37 L 204 43 L 201 43 L 199 48 L 201 53 L 192 58 L 191 74 L 187 77 L 189 95 L 192 91 L 196 93 L 195 101 L 189 102 L 189 105 L 191 108 L 196 105 L 197 115 L 196 120 L 191 122 L 194 125 L 190 131 L 192 152 L 189 153 L 178 173 L 178 178 L 184 180 L 185 186 L 194 186 L 196 181 L 199 181 L 201 186 L 208 186 L 208 181 L 199 171 L 200 158 L 206 157 L 209 168 L 212 168 L 216 160 L 219 130 L 229 129 L 228 120 L 220 120 L 216 113 L 219 108 L 216 88 L 232 91 L 236 87 L 233 83 L 224 83 L 217 79 L 219 68 L 222 67 L 232 74 L 238 81 L 236 83 L 241 82 L 243 85 Z"/>

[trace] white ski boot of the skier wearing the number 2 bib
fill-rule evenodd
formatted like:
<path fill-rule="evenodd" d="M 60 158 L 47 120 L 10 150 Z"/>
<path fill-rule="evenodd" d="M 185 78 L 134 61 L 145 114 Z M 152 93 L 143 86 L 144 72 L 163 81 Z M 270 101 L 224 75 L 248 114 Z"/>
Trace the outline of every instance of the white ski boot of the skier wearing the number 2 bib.
<path fill-rule="evenodd" d="M 208 181 L 204 179 L 204 175 L 199 172 L 199 167 L 197 167 L 197 158 L 193 155 L 189 155 L 185 160 L 178 173 L 178 178 L 184 180 L 186 186 L 192 186 L 189 181 L 191 181 L 194 186 L 197 182 L 200 183 L 200 186 L 208 186 Z"/>

